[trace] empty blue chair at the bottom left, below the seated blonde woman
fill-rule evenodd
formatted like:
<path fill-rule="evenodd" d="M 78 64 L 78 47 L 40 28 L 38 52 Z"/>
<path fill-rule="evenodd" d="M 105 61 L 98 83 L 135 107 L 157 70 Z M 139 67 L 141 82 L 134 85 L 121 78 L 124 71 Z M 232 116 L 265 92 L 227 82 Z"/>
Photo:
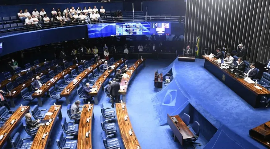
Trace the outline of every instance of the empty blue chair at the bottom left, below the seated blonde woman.
<path fill-rule="evenodd" d="M 33 141 L 24 142 L 23 140 L 26 139 L 31 139 L 31 137 L 22 139 L 20 134 L 17 132 L 11 140 L 11 145 L 14 149 L 30 149 Z"/>

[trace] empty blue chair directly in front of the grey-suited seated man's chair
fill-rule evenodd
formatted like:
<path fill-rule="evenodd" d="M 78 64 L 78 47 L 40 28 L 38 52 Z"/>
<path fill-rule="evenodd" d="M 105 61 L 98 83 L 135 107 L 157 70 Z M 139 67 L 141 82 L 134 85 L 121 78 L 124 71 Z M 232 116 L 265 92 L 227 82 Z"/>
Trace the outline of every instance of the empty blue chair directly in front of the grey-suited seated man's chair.
<path fill-rule="evenodd" d="M 79 124 L 75 124 L 74 120 L 67 122 L 67 119 L 63 117 L 61 126 L 66 135 L 78 135 Z"/>

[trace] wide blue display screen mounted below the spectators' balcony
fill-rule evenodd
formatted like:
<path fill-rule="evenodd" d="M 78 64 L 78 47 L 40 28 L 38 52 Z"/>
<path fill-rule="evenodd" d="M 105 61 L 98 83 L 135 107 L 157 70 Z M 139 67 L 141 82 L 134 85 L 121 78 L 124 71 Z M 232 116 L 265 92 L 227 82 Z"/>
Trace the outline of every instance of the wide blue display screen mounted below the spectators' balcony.
<path fill-rule="evenodd" d="M 88 38 L 121 35 L 169 35 L 170 23 L 136 22 L 88 25 Z"/>

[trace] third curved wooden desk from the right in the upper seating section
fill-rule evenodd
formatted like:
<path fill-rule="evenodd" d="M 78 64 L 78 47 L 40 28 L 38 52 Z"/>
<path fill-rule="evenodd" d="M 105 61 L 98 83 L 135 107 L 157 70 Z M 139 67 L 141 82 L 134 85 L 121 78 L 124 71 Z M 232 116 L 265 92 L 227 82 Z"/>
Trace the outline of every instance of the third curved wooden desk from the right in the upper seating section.
<path fill-rule="evenodd" d="M 104 60 L 101 62 L 96 62 L 92 66 L 88 67 L 86 70 L 84 70 L 82 73 L 80 73 L 71 83 L 68 84 L 66 87 L 67 91 L 63 90 L 60 94 L 61 97 L 65 97 L 66 100 L 69 101 L 69 95 L 76 89 L 76 87 L 79 87 L 80 83 L 83 81 L 83 79 L 88 76 L 88 74 L 92 73 L 94 69 L 98 68 L 101 64 L 104 64 Z M 91 69 L 92 67 L 92 69 Z M 80 78 L 81 77 L 81 78 Z"/>

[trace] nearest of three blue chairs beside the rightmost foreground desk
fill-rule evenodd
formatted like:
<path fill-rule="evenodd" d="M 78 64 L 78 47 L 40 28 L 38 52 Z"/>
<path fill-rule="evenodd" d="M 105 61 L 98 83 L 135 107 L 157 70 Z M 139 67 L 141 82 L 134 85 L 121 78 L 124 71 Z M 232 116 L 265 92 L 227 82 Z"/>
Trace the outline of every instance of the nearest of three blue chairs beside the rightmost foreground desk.
<path fill-rule="evenodd" d="M 113 134 L 106 135 L 105 131 L 101 131 L 103 144 L 106 149 L 121 149 L 118 138 L 107 139 L 107 137 L 112 137 Z"/>

